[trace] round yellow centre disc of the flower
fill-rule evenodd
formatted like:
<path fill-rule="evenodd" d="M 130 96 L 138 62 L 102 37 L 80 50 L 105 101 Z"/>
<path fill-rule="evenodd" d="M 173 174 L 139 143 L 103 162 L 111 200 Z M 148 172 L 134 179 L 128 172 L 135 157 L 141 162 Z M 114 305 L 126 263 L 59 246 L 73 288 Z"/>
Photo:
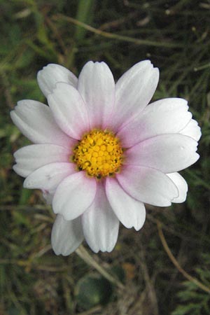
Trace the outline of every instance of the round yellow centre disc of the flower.
<path fill-rule="evenodd" d="M 111 132 L 92 130 L 78 142 L 72 160 L 90 176 L 113 176 L 123 162 L 123 148 Z"/>

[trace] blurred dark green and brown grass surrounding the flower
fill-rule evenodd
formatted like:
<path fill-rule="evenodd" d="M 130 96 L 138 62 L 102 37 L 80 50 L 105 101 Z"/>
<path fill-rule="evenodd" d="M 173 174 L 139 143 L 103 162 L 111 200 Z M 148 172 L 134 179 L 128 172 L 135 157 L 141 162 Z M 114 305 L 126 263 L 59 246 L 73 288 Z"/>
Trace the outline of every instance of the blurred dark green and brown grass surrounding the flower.
<path fill-rule="evenodd" d="M 0 314 L 209 315 L 210 1 L 0 1 Z M 182 172 L 188 199 L 148 207 L 140 232 L 120 228 L 116 248 L 93 258 L 118 277 L 113 286 L 76 253 L 50 246 L 54 215 L 38 190 L 22 188 L 13 152 L 29 144 L 11 123 L 20 99 L 45 102 L 36 73 L 48 63 L 78 75 L 104 60 L 116 80 L 134 63 L 160 68 L 153 99 L 183 97 L 202 127 L 200 160 Z M 129 92 L 129 91 L 128 91 Z M 158 226 L 161 223 L 162 230 Z M 169 246 L 167 254 L 162 233 Z"/>

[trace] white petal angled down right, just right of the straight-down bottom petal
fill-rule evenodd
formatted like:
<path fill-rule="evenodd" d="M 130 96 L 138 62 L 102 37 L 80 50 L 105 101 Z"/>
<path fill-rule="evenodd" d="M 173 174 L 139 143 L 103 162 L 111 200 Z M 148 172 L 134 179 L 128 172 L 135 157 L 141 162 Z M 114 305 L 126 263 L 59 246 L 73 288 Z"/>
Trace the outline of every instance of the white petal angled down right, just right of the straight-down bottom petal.
<path fill-rule="evenodd" d="M 144 225 L 146 210 L 144 204 L 125 193 L 116 179 L 106 179 L 106 196 L 113 211 L 125 228 L 139 231 Z"/>

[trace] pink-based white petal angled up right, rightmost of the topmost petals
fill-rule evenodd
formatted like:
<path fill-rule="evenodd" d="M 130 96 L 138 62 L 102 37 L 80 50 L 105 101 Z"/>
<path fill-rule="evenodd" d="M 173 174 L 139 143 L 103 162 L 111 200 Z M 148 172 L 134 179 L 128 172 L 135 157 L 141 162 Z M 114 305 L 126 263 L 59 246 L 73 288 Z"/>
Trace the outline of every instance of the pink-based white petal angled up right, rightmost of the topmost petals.
<path fill-rule="evenodd" d="M 113 130 L 118 131 L 132 117 L 143 111 L 158 85 L 159 70 L 149 60 L 132 66 L 116 83 Z"/>

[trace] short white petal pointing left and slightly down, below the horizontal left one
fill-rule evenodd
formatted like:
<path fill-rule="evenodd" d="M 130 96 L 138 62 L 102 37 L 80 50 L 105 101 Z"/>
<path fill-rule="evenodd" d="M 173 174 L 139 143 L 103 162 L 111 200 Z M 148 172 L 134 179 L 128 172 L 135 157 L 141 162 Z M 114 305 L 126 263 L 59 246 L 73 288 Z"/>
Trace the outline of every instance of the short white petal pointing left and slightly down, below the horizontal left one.
<path fill-rule="evenodd" d="M 67 176 L 75 173 L 75 165 L 73 163 L 50 163 L 39 169 L 36 169 L 25 179 L 24 188 L 55 190 Z"/>

